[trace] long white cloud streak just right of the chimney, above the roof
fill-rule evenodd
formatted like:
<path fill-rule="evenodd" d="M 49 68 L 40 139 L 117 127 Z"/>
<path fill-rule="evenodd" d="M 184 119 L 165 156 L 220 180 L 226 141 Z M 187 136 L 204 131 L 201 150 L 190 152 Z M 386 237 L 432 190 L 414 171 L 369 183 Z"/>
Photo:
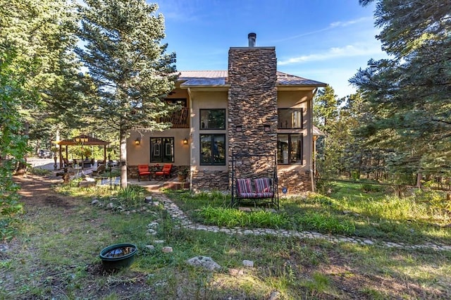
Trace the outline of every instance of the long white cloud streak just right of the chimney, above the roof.
<path fill-rule="evenodd" d="M 311 61 L 327 61 L 330 59 L 353 57 L 353 56 L 367 56 L 371 57 L 376 54 L 383 54 L 381 46 L 375 44 L 351 44 L 343 47 L 332 47 L 327 51 L 316 54 L 309 54 L 304 56 L 296 56 L 278 62 L 278 65 L 289 65 L 291 63 L 307 63 Z"/>

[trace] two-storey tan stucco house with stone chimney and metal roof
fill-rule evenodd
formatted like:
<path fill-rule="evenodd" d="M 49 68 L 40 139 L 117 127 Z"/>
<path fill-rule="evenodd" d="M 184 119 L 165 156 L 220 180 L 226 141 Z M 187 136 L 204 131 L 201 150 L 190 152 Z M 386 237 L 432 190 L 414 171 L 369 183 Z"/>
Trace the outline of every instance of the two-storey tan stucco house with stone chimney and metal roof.
<path fill-rule="evenodd" d="M 191 189 L 229 189 L 232 172 L 277 170 L 289 194 L 312 189 L 312 99 L 326 84 L 278 72 L 275 47 L 255 46 L 255 36 L 249 34 L 249 46 L 229 49 L 228 70 L 180 72 L 166 99 L 183 106 L 171 116 L 173 127 L 130 132 L 131 176 L 138 164 L 173 163 L 175 170 L 190 168 Z M 237 153 L 255 156 L 233 165 Z"/>

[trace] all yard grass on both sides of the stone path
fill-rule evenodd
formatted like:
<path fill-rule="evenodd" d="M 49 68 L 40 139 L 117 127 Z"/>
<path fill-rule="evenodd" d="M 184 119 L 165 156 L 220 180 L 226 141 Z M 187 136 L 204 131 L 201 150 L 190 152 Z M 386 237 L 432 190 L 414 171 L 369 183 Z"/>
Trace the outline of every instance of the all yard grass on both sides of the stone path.
<path fill-rule="evenodd" d="M 242 220 L 243 225 L 260 222 L 259 226 L 268 227 L 300 227 L 308 223 L 319 227 L 324 223 L 324 230 L 328 232 L 342 225 L 340 220 L 350 220 L 357 224 L 354 234 L 360 233 L 362 237 L 366 227 L 386 226 L 388 230 L 392 226 L 393 230 L 397 225 L 390 224 L 402 225 L 412 217 L 404 214 L 396 218 L 396 213 L 391 213 L 392 217 L 383 216 L 383 210 L 374 207 L 377 199 L 385 201 L 384 196 L 364 203 L 364 197 L 370 198 L 373 194 L 354 188 L 337 185 L 330 197 L 311 195 L 283 199 L 283 213 L 229 211 L 228 197 L 218 192 L 169 195 L 198 221 L 209 215 L 212 223 L 223 218 L 226 223 Z M 120 192 L 69 185 L 58 187 L 58 192 L 68 205 L 58 206 L 60 201 L 54 205 L 25 206 L 23 227 L 9 245 L 11 251 L 0 253 L 0 299 L 268 299 L 275 292 L 278 299 L 451 297 L 451 251 L 413 251 L 351 243 L 330 244 L 319 239 L 189 230 L 178 226 L 177 220 L 161 206 L 125 200 L 131 199 L 135 192 L 142 193 L 138 199 L 146 196 L 147 192 L 136 187 Z M 336 196 L 340 194 L 347 199 Z M 93 198 L 102 203 L 113 201 L 137 213 L 119 213 L 105 206 L 92 206 Z M 416 196 L 419 203 L 432 205 L 424 199 Z M 387 204 L 379 205 L 401 212 L 412 211 L 406 206 L 413 204 L 402 202 L 397 206 L 387 200 Z M 140 209 L 141 206 L 146 210 Z M 350 212 L 344 214 L 345 210 Z M 370 211 L 376 215 L 371 215 Z M 426 211 L 431 212 L 431 209 Z M 295 218 L 307 218 L 307 215 L 312 215 L 311 220 Z M 342 219 L 343 216 L 346 219 Z M 424 220 L 445 222 L 437 216 L 443 218 L 442 213 L 418 215 L 421 217 L 419 227 L 430 232 Z M 273 223 L 265 223 L 271 219 Z M 286 220 L 292 223 L 284 223 Z M 364 225 L 360 225 L 360 221 Z M 152 222 L 159 223 L 156 235 L 147 235 Z M 410 220 L 410 225 L 415 222 Z M 375 232 L 378 230 L 381 229 Z M 402 235 L 402 230 L 398 235 Z M 155 242 L 159 239 L 164 240 L 163 244 Z M 431 235 L 430 239 L 440 242 L 443 234 Z M 121 242 L 137 244 L 139 252 L 135 263 L 118 273 L 102 273 L 99 252 L 104 246 Z M 147 249 L 148 244 L 155 248 Z M 173 252 L 164 254 L 163 246 L 173 247 Z M 185 262 L 199 255 L 210 256 L 223 269 L 206 272 Z M 254 268 L 244 267 L 245 259 L 254 261 Z"/>

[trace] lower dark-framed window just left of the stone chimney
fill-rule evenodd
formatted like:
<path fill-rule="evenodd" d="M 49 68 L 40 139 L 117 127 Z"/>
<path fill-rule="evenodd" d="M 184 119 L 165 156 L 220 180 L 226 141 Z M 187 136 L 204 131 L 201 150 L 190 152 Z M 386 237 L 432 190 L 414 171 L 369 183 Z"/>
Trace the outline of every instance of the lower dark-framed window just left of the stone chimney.
<path fill-rule="evenodd" d="M 200 164 L 226 165 L 226 135 L 200 135 Z"/>

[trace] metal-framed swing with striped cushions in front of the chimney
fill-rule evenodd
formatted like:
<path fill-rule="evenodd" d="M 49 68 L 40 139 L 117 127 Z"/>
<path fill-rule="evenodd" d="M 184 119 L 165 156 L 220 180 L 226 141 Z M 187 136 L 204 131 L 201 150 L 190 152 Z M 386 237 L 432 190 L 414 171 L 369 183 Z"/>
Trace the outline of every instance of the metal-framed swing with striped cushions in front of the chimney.
<path fill-rule="evenodd" d="M 251 163 L 253 159 L 254 168 L 252 169 L 254 170 L 243 170 L 243 168 L 238 170 L 238 164 L 243 165 L 243 161 L 245 160 Z M 261 160 L 268 161 L 268 165 L 272 165 L 272 168 L 262 168 Z M 271 206 L 276 206 L 279 209 L 276 153 L 249 154 L 235 153 L 232 151 L 232 180 L 230 190 L 232 193 L 231 206 L 239 205 L 245 199 L 253 201 L 254 206 L 257 206 L 257 202 L 264 203 L 265 200 L 268 200 Z"/>

